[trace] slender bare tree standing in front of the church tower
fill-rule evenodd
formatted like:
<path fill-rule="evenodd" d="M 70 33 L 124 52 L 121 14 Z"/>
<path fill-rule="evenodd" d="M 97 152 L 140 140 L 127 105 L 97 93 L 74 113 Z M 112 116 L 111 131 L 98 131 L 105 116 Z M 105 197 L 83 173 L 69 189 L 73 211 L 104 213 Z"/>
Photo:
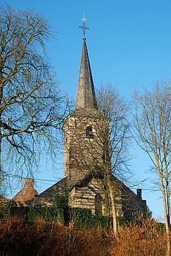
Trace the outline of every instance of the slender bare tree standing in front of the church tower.
<path fill-rule="evenodd" d="M 98 169 L 104 174 L 105 195 L 112 206 L 113 231 L 117 235 L 116 197 L 121 195 L 124 170 L 129 160 L 128 144 L 129 124 L 127 122 L 127 103 L 120 97 L 118 90 L 111 84 L 101 85 L 97 91 L 99 121 L 95 125 L 97 141 L 102 146 L 102 155 Z M 99 153 L 99 152 L 98 152 Z M 113 177 L 111 174 L 114 174 Z M 108 204 L 109 206 L 109 204 Z"/>

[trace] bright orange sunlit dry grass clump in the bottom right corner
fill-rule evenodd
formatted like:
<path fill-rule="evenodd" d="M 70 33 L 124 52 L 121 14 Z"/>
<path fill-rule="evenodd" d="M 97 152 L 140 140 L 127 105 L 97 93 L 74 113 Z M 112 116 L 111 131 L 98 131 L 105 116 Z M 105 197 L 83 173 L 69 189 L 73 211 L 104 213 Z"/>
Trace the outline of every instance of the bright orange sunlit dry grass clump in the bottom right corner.
<path fill-rule="evenodd" d="M 133 222 L 120 229 L 120 236 L 111 255 L 117 256 L 164 256 L 166 236 L 163 225 L 154 221 Z"/>

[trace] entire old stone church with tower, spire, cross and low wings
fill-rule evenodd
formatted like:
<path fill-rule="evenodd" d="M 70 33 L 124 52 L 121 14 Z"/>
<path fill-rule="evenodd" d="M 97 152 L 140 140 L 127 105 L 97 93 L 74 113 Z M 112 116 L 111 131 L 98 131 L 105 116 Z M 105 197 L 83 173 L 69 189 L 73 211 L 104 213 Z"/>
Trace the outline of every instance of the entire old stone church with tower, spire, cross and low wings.
<path fill-rule="evenodd" d="M 104 185 L 104 173 L 98 170 L 96 164 L 101 161 L 98 153 L 102 152 L 102 145 L 95 140 L 98 137 L 96 124 L 99 123 L 99 111 L 85 43 L 85 23 L 81 28 L 84 37 L 75 110 L 69 113 L 63 127 L 64 178 L 35 195 L 32 204 L 50 207 L 55 197 L 61 195 L 68 197 L 71 208 L 87 208 L 93 214 L 106 215 L 107 188 Z M 141 190 L 137 190 L 136 194 L 113 174 L 110 176 L 117 215 L 132 217 L 138 212 L 145 215 L 146 201 L 141 198 Z"/>

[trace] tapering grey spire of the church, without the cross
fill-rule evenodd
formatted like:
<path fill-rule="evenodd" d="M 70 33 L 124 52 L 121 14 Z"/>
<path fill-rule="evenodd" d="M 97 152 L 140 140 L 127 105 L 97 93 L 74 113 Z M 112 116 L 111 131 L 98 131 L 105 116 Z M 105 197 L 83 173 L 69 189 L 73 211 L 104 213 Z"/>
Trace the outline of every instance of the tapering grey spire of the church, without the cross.
<path fill-rule="evenodd" d="M 77 110 L 77 112 L 78 110 L 98 109 L 85 37 L 83 37 L 83 40 L 82 58 L 75 103 L 75 110 Z"/>

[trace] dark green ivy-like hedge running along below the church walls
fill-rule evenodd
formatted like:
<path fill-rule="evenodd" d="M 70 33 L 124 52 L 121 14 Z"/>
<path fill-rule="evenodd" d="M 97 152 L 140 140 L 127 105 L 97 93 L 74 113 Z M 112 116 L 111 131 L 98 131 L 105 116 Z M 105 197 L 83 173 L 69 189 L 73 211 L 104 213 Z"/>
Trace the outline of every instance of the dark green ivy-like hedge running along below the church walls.
<path fill-rule="evenodd" d="M 11 208 L 11 211 L 10 211 Z M 44 219 L 46 222 L 58 222 L 61 226 L 71 225 L 78 228 L 98 228 L 102 227 L 111 230 L 113 226 L 113 218 L 93 215 L 91 210 L 85 208 L 69 208 L 67 197 L 55 197 L 53 207 L 31 206 L 28 208 L 14 208 L 13 204 L 8 204 L 4 208 L 0 208 L 2 213 L 20 213 L 24 215 L 28 221 L 37 221 Z M 4 214 L 1 214 L 4 215 Z M 118 217 L 118 226 L 122 226 L 127 222 L 125 217 Z"/>

